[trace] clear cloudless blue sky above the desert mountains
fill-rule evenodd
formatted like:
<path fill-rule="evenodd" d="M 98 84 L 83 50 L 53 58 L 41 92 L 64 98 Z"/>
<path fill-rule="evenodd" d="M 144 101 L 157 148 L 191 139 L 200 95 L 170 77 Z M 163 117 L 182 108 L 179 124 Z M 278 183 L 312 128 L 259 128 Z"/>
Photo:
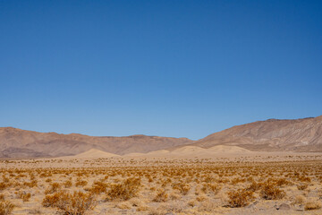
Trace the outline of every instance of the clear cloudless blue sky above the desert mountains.
<path fill-rule="evenodd" d="M 322 1 L 0 0 L 0 126 L 199 139 L 322 115 Z"/>

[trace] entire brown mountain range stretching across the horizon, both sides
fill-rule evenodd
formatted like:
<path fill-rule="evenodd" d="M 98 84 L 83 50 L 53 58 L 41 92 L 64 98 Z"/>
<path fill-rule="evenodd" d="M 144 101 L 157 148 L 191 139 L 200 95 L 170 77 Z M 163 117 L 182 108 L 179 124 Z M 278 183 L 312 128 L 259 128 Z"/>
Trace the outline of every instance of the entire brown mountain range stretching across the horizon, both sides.
<path fill-rule="evenodd" d="M 147 135 L 96 137 L 79 133 L 38 133 L 13 127 L 0 128 L 0 158 L 60 157 L 91 149 L 124 155 L 176 150 L 186 146 L 208 149 L 217 145 L 258 151 L 322 152 L 322 116 L 268 119 L 236 125 L 198 141 Z"/>

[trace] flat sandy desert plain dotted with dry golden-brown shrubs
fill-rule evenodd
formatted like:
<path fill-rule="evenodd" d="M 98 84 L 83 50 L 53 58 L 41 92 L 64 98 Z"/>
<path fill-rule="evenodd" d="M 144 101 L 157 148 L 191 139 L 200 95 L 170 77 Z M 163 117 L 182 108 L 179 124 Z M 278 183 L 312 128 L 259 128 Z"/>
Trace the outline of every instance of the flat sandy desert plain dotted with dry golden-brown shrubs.
<path fill-rule="evenodd" d="M 2 160 L 0 215 L 322 214 L 322 157 L 277 157 Z"/>

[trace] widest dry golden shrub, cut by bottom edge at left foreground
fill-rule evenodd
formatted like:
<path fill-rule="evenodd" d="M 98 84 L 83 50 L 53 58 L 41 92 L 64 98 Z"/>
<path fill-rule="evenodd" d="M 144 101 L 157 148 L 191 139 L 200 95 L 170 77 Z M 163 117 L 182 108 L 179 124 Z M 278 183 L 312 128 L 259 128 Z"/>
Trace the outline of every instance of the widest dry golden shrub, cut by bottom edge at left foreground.
<path fill-rule="evenodd" d="M 86 211 L 93 210 L 96 206 L 96 201 L 90 193 L 74 192 L 71 194 L 60 191 L 46 195 L 42 205 L 44 207 L 57 208 L 64 214 L 82 215 Z"/>

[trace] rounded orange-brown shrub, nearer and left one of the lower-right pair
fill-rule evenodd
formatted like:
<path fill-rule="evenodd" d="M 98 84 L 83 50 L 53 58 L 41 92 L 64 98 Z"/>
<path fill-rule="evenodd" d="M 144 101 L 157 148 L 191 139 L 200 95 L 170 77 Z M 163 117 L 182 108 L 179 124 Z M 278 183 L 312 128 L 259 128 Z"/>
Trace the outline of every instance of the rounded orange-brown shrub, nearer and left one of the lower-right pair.
<path fill-rule="evenodd" d="M 240 208 L 248 205 L 254 199 L 253 192 L 247 189 L 238 189 L 228 192 L 228 206 L 232 208 Z"/>

